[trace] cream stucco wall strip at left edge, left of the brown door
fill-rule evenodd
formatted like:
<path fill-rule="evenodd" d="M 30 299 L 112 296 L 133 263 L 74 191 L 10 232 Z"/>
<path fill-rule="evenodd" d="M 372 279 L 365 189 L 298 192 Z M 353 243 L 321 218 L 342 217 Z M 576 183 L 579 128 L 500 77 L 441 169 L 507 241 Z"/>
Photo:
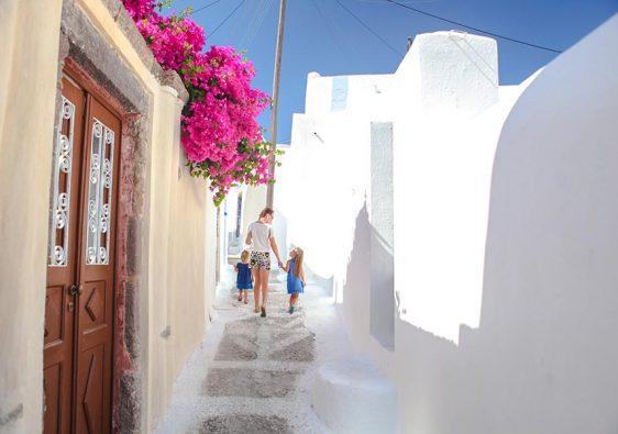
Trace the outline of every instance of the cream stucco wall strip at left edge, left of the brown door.
<path fill-rule="evenodd" d="M 0 431 L 7 433 L 42 430 L 60 10 L 60 0 L 0 7 Z"/>

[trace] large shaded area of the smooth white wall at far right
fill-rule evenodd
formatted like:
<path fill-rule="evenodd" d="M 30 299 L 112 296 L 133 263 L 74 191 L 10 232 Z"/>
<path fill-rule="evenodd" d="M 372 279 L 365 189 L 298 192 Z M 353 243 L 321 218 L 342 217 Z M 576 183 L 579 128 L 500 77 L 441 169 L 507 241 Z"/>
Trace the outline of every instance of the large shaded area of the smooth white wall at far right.
<path fill-rule="evenodd" d="M 401 432 L 618 432 L 618 16 L 549 65 L 494 166 L 481 326 L 396 321 Z"/>

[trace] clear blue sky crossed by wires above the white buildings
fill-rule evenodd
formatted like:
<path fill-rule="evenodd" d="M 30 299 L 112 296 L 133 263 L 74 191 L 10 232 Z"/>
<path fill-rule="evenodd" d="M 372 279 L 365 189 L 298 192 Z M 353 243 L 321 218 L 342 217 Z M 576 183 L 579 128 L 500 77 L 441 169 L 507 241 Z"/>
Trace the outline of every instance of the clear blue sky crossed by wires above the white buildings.
<path fill-rule="evenodd" d="M 214 0 L 175 0 L 174 9 L 198 9 Z M 209 35 L 242 0 L 220 0 L 192 15 Z M 374 32 L 364 29 L 335 0 L 288 0 L 282 65 L 277 138 L 289 143 L 291 115 L 304 112 L 307 74 L 389 74 L 406 51 L 407 36 L 456 29 L 385 0 L 340 0 Z M 618 12 L 618 0 L 401 0 L 413 8 L 489 32 L 566 49 Z M 279 0 L 245 0 L 207 44 L 246 51 L 256 69 L 254 85 L 268 93 Z M 474 32 L 471 32 L 474 33 Z M 556 54 L 498 40 L 500 84 L 519 84 Z M 260 119 L 268 127 L 269 113 Z"/>

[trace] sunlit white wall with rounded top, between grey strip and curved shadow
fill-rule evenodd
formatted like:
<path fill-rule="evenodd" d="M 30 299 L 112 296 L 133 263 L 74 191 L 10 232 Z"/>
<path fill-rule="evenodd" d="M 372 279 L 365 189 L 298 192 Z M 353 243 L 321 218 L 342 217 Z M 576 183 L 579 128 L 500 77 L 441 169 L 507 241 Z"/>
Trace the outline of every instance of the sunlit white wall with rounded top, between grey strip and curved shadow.
<path fill-rule="evenodd" d="M 438 32 L 417 36 L 396 73 L 398 312 L 453 342 L 478 325 L 492 164 L 520 92 L 497 70 L 494 40 Z"/>

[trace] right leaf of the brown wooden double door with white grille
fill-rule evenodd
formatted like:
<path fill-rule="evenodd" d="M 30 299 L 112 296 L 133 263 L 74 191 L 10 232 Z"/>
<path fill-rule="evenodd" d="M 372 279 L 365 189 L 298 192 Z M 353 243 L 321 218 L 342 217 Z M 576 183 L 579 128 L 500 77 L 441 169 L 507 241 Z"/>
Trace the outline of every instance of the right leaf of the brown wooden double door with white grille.
<path fill-rule="evenodd" d="M 89 97 L 77 318 L 76 429 L 111 430 L 115 209 L 121 124 Z"/>

